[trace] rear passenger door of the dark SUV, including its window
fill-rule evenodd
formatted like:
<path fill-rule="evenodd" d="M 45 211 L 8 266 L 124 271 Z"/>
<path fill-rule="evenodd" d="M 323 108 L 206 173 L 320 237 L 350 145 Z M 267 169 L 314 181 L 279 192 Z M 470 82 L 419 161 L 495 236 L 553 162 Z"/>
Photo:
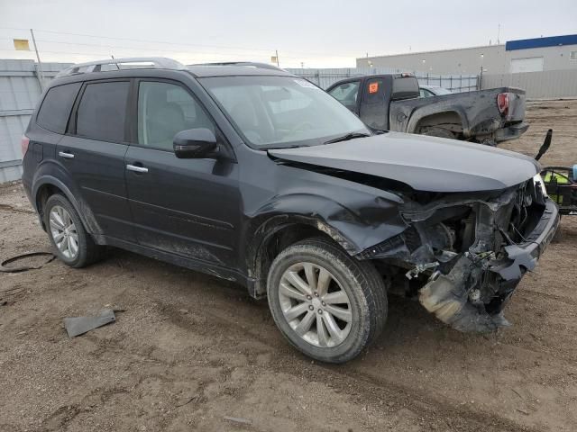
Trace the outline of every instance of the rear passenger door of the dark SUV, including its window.
<path fill-rule="evenodd" d="M 102 233 L 134 241 L 124 183 L 129 89 L 129 79 L 85 83 L 56 157 L 69 171 Z"/>

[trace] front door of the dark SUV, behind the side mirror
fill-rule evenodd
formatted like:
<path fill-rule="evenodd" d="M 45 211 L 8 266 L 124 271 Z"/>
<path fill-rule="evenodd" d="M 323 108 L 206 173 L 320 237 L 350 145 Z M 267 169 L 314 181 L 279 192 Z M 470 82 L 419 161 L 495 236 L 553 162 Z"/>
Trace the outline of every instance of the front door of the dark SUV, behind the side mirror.
<path fill-rule="evenodd" d="M 179 159 L 181 130 L 213 130 L 214 121 L 185 85 L 142 79 L 133 93 L 133 145 L 125 157 L 128 197 L 138 242 L 215 266 L 235 266 L 240 196 L 236 163 Z"/>

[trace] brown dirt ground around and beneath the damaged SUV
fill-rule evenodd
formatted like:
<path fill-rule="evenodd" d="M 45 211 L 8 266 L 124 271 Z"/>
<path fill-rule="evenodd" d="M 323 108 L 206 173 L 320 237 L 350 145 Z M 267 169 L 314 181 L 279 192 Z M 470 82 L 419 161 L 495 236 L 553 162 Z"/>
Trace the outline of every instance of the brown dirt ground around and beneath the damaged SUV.
<path fill-rule="evenodd" d="M 506 148 L 577 163 L 577 101 L 530 103 Z M 20 184 L 0 188 L 0 258 L 48 249 Z M 73 270 L 0 274 L 0 430 L 577 430 L 577 217 L 489 336 L 391 298 L 376 344 L 329 366 L 284 341 L 267 302 L 231 283 L 121 250 Z M 117 310 L 69 339 L 62 319 Z M 232 418 L 232 419 L 231 419 Z"/>

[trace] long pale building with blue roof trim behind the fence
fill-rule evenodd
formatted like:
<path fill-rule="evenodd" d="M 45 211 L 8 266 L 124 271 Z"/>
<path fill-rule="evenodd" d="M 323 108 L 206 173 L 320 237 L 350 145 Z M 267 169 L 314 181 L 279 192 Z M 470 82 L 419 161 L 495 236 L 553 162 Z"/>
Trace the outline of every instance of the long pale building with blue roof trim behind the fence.
<path fill-rule="evenodd" d="M 357 67 L 397 67 L 432 74 L 486 74 L 577 69 L 577 34 L 509 40 L 499 45 L 357 58 Z"/>

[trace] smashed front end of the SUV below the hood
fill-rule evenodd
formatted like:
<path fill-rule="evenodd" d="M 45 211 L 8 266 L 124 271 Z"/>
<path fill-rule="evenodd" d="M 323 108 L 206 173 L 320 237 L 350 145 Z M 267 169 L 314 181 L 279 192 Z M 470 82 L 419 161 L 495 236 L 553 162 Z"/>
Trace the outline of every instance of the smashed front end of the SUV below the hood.
<path fill-rule="evenodd" d="M 536 266 L 558 223 L 542 181 L 504 191 L 405 194 L 409 228 L 362 257 L 406 268 L 419 302 L 460 331 L 487 332 L 525 272 Z"/>

